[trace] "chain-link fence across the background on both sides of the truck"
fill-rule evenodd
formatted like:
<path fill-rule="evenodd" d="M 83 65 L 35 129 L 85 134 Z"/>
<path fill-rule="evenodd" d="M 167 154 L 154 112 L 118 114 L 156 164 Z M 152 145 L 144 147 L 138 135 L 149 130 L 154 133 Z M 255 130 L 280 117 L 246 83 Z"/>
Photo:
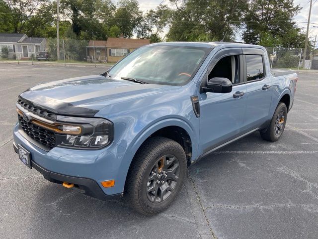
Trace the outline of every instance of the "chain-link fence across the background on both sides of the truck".
<path fill-rule="evenodd" d="M 58 47 L 59 45 L 59 47 Z M 59 54 L 58 54 L 59 48 Z M 318 70 L 318 50 L 308 49 L 304 59 L 303 48 L 265 47 L 272 68 L 279 69 L 313 69 Z M 69 64 L 113 64 L 112 54 L 116 59 L 124 57 L 129 50 L 110 51 L 106 41 L 31 38 L 26 43 L 0 44 L 0 58 L 16 61 L 50 61 Z M 117 57 L 117 54 L 121 57 Z M 303 61 L 305 65 L 303 67 Z"/>

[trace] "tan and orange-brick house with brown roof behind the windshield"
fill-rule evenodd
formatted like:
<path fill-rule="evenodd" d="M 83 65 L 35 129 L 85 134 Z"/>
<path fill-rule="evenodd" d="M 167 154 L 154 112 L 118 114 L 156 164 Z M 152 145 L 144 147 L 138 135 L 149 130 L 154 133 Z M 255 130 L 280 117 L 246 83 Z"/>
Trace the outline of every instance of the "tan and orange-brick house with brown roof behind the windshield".
<path fill-rule="evenodd" d="M 108 37 L 107 41 L 90 40 L 86 47 L 87 61 L 117 62 L 137 48 L 149 44 L 149 39 Z"/>

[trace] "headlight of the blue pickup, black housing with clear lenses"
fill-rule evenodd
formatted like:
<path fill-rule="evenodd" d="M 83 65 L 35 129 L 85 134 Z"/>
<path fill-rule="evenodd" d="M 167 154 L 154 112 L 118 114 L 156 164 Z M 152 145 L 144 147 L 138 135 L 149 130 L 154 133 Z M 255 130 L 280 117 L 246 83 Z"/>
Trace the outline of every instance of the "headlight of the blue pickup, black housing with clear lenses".
<path fill-rule="evenodd" d="M 107 146 L 113 140 L 113 123 L 107 119 L 58 116 L 57 121 L 68 123 L 60 128 L 65 134 L 56 134 L 58 147 L 98 149 Z M 73 133 L 77 127 L 80 127 L 80 135 Z"/>

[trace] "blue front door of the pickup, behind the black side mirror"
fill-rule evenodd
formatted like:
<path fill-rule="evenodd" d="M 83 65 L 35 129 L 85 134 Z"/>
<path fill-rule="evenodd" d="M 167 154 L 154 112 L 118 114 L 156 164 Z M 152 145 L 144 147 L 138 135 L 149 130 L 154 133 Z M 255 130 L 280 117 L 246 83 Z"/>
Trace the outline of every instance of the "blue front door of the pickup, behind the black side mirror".
<path fill-rule="evenodd" d="M 201 153 L 228 142 L 242 133 L 246 113 L 246 85 L 243 82 L 241 48 L 221 50 L 213 57 L 206 74 L 228 78 L 233 89 L 230 93 L 203 93 L 200 91 L 200 150 Z M 204 86 L 204 83 L 201 84 Z"/>

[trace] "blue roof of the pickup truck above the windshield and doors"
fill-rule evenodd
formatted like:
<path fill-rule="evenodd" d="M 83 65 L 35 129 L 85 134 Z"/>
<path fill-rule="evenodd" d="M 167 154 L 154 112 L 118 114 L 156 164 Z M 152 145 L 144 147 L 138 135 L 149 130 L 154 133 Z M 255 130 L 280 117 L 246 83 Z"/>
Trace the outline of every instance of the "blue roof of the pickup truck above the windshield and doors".
<path fill-rule="evenodd" d="M 206 48 L 214 48 L 216 46 L 224 45 L 225 47 L 251 47 L 251 48 L 264 49 L 264 47 L 258 46 L 258 45 L 244 44 L 244 43 L 238 43 L 238 42 L 221 42 L 221 41 L 214 41 L 214 42 L 172 41 L 172 42 L 154 43 L 151 45 L 194 46 L 194 47 L 206 47 Z"/>

